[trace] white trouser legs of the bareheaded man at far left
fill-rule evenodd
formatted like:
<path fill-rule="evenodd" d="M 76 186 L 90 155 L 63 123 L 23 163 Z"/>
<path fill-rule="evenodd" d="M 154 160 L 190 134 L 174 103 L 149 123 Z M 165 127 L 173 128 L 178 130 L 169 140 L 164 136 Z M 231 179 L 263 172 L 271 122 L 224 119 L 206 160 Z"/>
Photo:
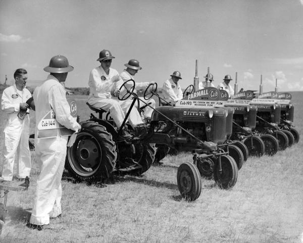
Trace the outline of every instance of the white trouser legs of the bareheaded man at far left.
<path fill-rule="evenodd" d="M 4 129 L 2 178 L 4 180 L 13 179 L 15 158 L 17 160 L 16 176 L 25 178 L 30 173 L 29 117 L 27 115 L 24 120 L 21 120 L 17 117 L 17 113 L 12 113 L 8 119 L 8 125 Z"/>

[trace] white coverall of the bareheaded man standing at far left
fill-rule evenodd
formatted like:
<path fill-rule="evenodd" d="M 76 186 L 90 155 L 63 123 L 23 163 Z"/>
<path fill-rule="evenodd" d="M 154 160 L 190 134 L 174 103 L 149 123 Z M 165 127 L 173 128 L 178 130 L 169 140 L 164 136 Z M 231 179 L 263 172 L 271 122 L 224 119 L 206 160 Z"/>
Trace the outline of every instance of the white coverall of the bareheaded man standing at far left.
<path fill-rule="evenodd" d="M 15 156 L 17 155 L 17 177 L 25 178 L 30 173 L 30 152 L 28 145 L 29 138 L 29 116 L 24 120 L 18 118 L 20 103 L 25 103 L 31 98 L 27 88 L 18 90 L 12 85 L 3 91 L 1 98 L 1 109 L 8 113 L 8 120 L 4 128 L 5 147 L 3 151 L 4 164 L 2 178 L 13 179 Z"/>

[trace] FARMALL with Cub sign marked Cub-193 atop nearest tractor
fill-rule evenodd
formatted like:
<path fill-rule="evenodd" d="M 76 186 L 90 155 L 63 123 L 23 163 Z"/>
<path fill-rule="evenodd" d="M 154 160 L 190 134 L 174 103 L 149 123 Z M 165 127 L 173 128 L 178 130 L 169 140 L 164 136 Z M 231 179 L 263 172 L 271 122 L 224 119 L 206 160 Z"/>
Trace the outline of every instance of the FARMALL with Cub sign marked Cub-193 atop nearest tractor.
<path fill-rule="evenodd" d="M 176 107 L 223 107 L 228 100 L 228 93 L 214 87 L 206 87 L 185 96 L 176 103 Z"/>

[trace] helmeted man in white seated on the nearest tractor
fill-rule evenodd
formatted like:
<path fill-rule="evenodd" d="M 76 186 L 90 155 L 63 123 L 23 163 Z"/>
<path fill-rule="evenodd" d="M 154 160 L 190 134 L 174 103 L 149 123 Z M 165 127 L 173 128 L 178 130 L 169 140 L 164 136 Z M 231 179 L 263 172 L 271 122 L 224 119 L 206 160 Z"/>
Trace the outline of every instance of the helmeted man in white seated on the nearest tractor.
<path fill-rule="evenodd" d="M 117 128 L 120 129 L 125 115 L 120 105 L 122 102 L 112 99 L 112 93 L 116 96 L 119 95 L 120 90 L 117 87 L 117 84 L 123 83 L 123 80 L 119 76 L 118 71 L 111 68 L 112 59 L 114 58 L 115 57 L 113 57 L 108 50 L 103 50 L 99 53 L 97 61 L 99 61 L 101 65 L 92 69 L 89 74 L 88 85 L 90 93 L 87 102 L 91 106 L 110 111 L 111 117 L 114 119 Z M 140 114 L 136 109 L 131 110 L 128 121 L 133 128 L 138 124 L 143 123 Z M 121 136 L 124 138 L 131 137 L 125 130 L 122 130 Z"/>

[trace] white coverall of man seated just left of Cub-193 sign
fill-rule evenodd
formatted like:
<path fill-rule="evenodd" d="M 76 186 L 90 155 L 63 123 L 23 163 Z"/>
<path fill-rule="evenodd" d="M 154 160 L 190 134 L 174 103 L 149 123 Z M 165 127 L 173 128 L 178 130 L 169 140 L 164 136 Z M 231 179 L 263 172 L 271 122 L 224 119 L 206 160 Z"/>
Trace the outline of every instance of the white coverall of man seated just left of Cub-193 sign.
<path fill-rule="evenodd" d="M 163 87 L 162 87 L 162 97 L 171 105 L 174 105 L 176 104 L 177 101 L 183 99 L 183 92 L 180 87 L 180 84 L 179 83 L 175 84 L 172 78 L 166 80 L 163 83 Z M 167 105 L 163 101 L 162 104 Z"/>

